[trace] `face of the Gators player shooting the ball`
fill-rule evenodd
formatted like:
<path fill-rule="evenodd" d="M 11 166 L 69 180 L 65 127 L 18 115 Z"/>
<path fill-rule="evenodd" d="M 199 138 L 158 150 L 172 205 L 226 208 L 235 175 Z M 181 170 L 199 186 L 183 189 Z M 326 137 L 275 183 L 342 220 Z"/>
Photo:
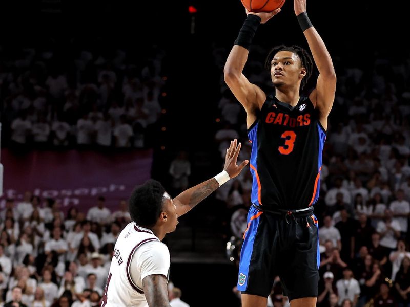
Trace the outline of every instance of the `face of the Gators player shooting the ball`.
<path fill-rule="evenodd" d="M 303 73 L 301 75 L 301 73 Z M 275 87 L 294 85 L 305 75 L 300 58 L 291 51 L 279 51 L 271 61 L 271 76 Z"/>

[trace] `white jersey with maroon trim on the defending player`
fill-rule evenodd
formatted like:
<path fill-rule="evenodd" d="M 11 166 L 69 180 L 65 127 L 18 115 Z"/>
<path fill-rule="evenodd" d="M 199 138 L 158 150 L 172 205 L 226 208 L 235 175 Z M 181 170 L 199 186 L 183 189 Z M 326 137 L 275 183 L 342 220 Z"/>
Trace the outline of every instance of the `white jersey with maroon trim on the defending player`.
<path fill-rule="evenodd" d="M 168 247 L 151 230 L 131 222 L 115 243 L 101 307 L 148 306 L 142 279 L 161 274 L 168 280 L 169 268 Z"/>

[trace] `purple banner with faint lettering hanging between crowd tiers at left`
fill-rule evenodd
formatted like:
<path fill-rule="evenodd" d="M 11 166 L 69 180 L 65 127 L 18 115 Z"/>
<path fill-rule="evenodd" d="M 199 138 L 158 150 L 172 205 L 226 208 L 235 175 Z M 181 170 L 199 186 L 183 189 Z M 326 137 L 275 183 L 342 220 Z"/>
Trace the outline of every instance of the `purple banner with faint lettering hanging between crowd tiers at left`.
<path fill-rule="evenodd" d="M 19 202 L 25 191 L 31 191 L 43 200 L 59 200 L 64 211 L 75 205 L 87 212 L 96 205 L 98 196 L 105 196 L 107 207 L 115 211 L 121 199 L 128 199 L 136 185 L 150 178 L 152 151 L 32 151 L 15 156 L 2 149 L 1 159 L 4 182 L 0 208 L 4 208 L 6 198 Z"/>

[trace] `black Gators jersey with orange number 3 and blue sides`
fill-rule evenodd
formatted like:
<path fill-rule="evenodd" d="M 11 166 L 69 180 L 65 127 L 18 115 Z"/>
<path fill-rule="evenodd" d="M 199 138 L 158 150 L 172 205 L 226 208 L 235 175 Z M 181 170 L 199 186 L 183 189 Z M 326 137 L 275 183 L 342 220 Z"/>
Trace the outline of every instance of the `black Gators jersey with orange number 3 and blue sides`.
<path fill-rule="evenodd" d="M 291 107 L 268 96 L 248 137 L 253 204 L 294 210 L 318 200 L 326 131 L 309 97 L 300 97 Z"/>

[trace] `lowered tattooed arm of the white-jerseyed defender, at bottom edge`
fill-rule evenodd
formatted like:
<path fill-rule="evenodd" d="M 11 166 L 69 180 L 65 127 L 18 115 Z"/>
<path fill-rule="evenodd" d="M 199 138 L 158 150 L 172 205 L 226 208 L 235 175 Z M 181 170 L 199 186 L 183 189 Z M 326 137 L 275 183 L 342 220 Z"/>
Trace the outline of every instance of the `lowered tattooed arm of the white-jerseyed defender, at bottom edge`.
<path fill-rule="evenodd" d="M 161 274 L 148 275 L 142 279 L 142 287 L 149 307 L 170 307 L 167 278 Z"/>

